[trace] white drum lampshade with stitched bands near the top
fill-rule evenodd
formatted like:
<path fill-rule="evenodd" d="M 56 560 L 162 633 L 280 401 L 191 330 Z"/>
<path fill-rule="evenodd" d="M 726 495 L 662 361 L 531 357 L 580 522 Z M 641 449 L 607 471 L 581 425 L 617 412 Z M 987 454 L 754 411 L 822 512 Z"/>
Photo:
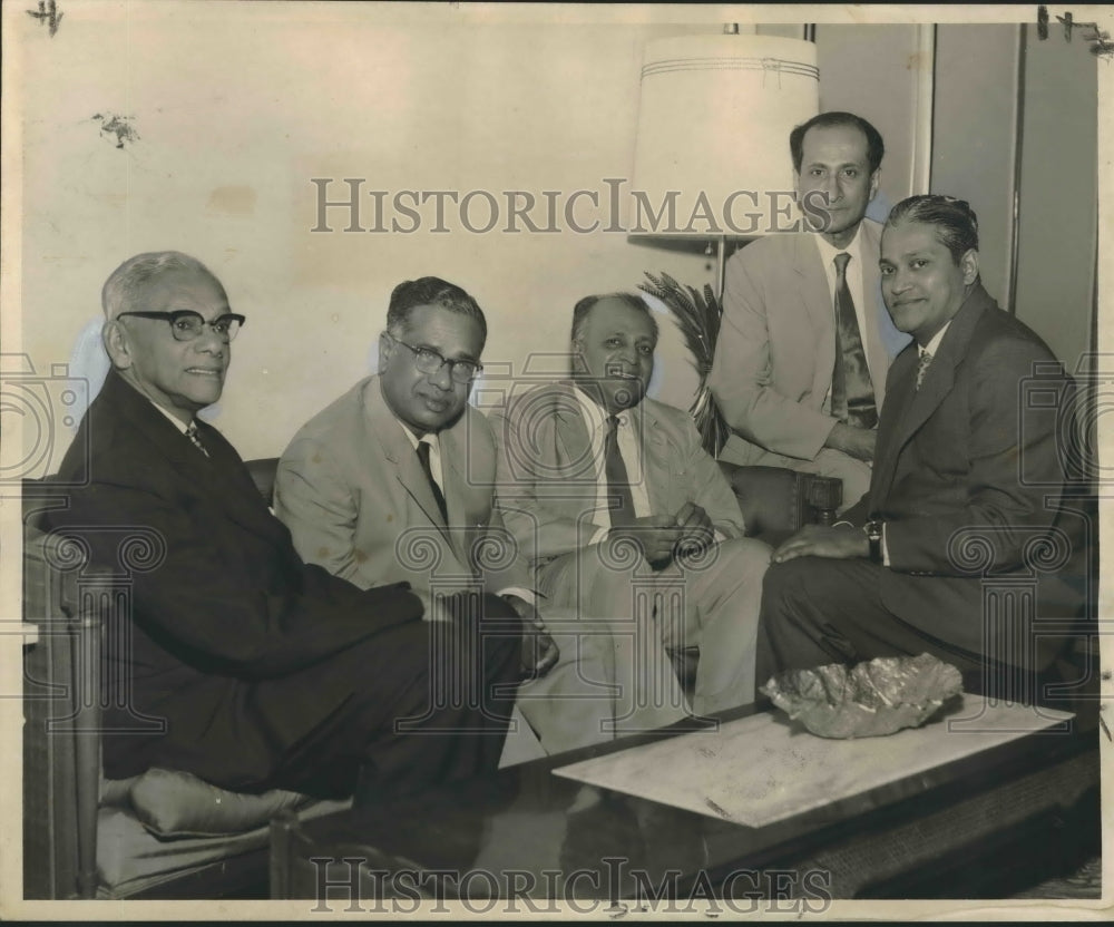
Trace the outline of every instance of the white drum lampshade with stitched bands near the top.
<path fill-rule="evenodd" d="M 800 214 L 789 134 L 818 113 L 819 88 L 809 41 L 713 35 L 648 42 L 629 233 L 707 238 L 792 231 Z M 671 191 L 672 227 L 667 213 L 657 222 L 646 208 L 639 213 L 639 193 L 657 213 Z"/>

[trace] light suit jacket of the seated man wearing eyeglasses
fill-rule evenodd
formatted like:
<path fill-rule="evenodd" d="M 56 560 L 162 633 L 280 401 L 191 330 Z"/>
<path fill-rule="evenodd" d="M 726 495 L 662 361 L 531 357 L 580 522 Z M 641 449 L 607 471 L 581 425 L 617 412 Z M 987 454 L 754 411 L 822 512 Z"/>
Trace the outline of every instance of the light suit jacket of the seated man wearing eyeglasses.
<path fill-rule="evenodd" d="M 438 436 L 448 525 L 402 429 L 369 377 L 294 436 L 274 505 L 302 557 L 362 588 L 408 580 L 428 589 L 453 577 L 482 578 L 488 592 L 531 587 L 494 506 L 487 419 L 468 407 Z"/>

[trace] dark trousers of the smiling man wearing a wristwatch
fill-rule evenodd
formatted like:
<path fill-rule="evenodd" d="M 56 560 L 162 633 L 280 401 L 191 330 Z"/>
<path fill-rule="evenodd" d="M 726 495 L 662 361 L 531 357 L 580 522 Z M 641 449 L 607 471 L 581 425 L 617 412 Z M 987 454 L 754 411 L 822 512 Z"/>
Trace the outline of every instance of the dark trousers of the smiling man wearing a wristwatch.
<path fill-rule="evenodd" d="M 901 621 L 879 595 L 882 569 L 870 560 L 823 557 L 771 566 L 759 619 L 759 684 L 783 670 L 930 653 L 959 670 L 968 692 L 1010 697 L 1038 691 L 1036 677 L 1019 679 L 1030 670 L 991 663 Z"/>

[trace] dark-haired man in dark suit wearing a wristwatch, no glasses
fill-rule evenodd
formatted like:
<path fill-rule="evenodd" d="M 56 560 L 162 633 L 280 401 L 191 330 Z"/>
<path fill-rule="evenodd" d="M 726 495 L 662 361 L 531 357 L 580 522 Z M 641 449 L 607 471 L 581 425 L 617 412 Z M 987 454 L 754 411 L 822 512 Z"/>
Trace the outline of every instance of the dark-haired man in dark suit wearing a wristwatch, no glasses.
<path fill-rule="evenodd" d="M 774 552 L 759 680 L 926 651 L 968 684 L 993 686 L 987 674 L 1008 665 L 1042 671 L 1057 641 L 999 623 L 984 605 L 983 577 L 1035 575 L 1034 543 L 1064 539 L 1054 526 L 1063 488 L 1055 416 L 1019 414 L 1019 397 L 1027 378 L 1061 397 L 1069 381 L 979 283 L 966 203 L 899 203 L 880 266 L 893 322 L 915 343 L 890 369 L 870 490 L 846 521 L 810 526 Z M 1072 616 L 1078 596 L 1046 579 L 1042 602 Z"/>

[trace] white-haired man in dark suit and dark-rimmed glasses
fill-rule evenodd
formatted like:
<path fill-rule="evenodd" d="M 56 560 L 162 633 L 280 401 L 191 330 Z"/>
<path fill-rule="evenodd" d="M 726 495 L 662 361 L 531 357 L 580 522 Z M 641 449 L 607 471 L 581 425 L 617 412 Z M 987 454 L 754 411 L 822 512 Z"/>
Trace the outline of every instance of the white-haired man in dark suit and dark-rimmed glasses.
<path fill-rule="evenodd" d="M 495 769 L 519 671 L 515 613 L 488 603 L 478 626 L 463 599 L 361 591 L 302 562 L 240 456 L 195 418 L 219 399 L 244 322 L 199 262 L 131 257 L 102 302 L 113 370 L 59 472 L 86 486 L 53 527 L 109 567 L 130 526 L 157 538 L 108 635 L 129 702 L 109 699 L 106 774 L 158 765 L 370 802 Z M 483 633 L 496 621 L 500 633 Z M 510 691 L 495 697 L 496 683 Z M 164 730 L 127 733 L 134 713 Z"/>

